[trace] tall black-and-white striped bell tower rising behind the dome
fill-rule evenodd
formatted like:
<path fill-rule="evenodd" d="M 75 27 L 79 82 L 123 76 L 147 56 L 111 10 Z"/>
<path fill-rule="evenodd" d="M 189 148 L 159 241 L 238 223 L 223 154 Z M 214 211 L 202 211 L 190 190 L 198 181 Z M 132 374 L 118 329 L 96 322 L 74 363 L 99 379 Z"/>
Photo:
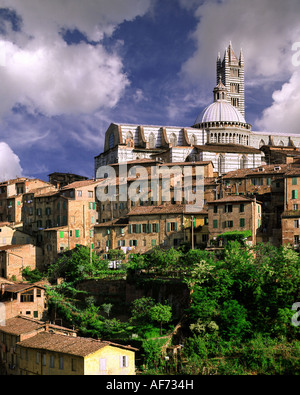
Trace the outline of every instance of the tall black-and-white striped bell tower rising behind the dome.
<path fill-rule="evenodd" d="M 220 80 L 227 88 L 227 100 L 245 117 L 245 71 L 244 55 L 241 49 L 240 57 L 235 55 L 231 41 L 225 50 L 223 61 L 220 53 L 217 59 L 217 83 Z"/>

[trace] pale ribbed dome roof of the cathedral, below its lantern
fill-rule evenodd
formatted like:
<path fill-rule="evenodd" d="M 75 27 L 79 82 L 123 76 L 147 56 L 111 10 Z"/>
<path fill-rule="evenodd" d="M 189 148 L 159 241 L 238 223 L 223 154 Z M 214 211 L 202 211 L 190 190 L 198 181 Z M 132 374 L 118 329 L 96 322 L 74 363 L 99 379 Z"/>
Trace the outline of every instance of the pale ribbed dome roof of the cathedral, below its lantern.
<path fill-rule="evenodd" d="M 226 100 L 216 100 L 202 111 L 195 125 L 208 122 L 238 122 L 246 123 L 243 115 Z"/>

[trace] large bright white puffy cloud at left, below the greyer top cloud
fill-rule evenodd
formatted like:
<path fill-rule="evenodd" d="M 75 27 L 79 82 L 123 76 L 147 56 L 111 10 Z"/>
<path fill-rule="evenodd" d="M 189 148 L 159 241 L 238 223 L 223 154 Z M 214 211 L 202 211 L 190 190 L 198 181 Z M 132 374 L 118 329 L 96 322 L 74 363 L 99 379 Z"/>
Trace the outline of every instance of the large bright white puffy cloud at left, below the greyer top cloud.
<path fill-rule="evenodd" d="M 100 44 L 68 46 L 63 41 L 24 49 L 6 43 L 0 78 L 0 112 L 20 103 L 50 116 L 113 107 L 129 83 L 118 55 Z"/>

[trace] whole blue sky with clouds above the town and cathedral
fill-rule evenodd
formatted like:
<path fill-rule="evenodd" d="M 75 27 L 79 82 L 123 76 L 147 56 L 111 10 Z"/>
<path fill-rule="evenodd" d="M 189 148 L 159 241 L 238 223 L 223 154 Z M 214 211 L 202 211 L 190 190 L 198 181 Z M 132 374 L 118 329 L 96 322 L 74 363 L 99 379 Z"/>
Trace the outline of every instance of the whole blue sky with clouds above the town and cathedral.
<path fill-rule="evenodd" d="M 112 122 L 192 126 L 230 41 L 252 130 L 300 133 L 299 15 L 299 0 L 0 0 L 0 181 L 92 178 Z"/>

